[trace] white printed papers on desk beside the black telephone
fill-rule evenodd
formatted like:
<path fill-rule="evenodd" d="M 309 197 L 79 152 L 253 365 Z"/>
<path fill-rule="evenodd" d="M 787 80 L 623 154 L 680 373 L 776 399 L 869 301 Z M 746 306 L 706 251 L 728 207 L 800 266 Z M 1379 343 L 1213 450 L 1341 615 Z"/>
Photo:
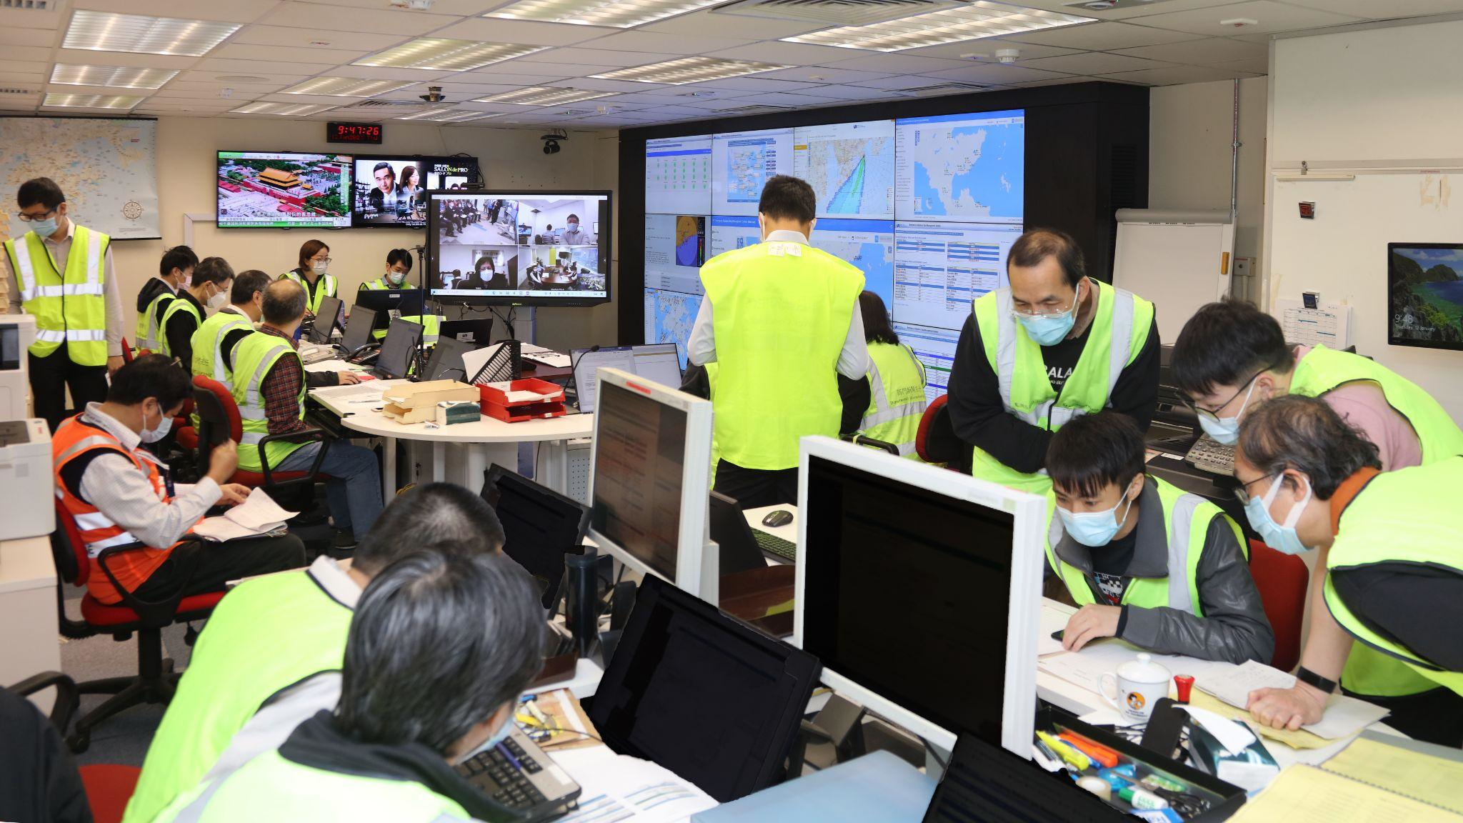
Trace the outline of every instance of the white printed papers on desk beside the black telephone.
<path fill-rule="evenodd" d="M 679 823 L 717 805 L 707 792 L 650 760 L 606 745 L 554 751 L 554 763 L 579 783 L 579 807 L 557 823 Z"/>

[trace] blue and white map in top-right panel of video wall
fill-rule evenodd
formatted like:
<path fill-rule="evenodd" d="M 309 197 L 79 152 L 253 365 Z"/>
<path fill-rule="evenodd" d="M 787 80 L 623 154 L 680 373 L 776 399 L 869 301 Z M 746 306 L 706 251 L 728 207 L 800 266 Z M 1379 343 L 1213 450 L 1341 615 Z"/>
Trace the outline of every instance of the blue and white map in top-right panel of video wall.
<path fill-rule="evenodd" d="M 1021 123 L 911 127 L 909 151 L 913 190 L 900 217 L 945 217 L 1020 223 L 1026 142 Z"/>

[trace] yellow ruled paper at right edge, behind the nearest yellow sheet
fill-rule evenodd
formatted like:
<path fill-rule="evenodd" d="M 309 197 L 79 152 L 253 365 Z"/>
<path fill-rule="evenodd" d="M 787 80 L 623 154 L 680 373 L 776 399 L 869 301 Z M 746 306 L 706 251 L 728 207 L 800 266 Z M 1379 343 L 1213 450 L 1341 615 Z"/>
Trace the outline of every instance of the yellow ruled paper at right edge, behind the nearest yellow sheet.
<path fill-rule="evenodd" d="M 1416 751 L 1418 748 L 1437 754 Z M 1463 751 L 1457 748 L 1403 738 L 1393 744 L 1384 741 L 1383 735 L 1368 732 L 1333 757 L 1324 769 L 1463 814 Z"/>

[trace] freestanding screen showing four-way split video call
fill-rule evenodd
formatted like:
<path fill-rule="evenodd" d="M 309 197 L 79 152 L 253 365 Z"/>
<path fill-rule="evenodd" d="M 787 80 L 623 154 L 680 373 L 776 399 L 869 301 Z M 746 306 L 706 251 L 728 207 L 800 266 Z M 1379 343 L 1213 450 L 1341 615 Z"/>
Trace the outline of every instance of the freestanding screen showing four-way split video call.
<path fill-rule="evenodd" d="M 432 296 L 493 305 L 610 299 L 609 192 L 432 192 Z"/>

